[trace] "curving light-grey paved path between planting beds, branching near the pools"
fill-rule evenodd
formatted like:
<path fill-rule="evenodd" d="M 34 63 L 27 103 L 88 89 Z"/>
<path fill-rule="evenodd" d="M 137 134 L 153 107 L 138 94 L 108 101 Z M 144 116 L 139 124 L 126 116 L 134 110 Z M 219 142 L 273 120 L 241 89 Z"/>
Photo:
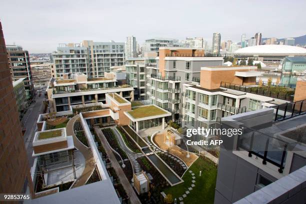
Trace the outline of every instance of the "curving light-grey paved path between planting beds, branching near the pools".
<path fill-rule="evenodd" d="M 112 129 L 112 131 L 114 132 L 114 134 L 116 135 L 118 141 L 119 141 L 119 145 L 121 146 L 121 148 L 125 151 L 125 153 L 127 154 L 129 160 L 131 161 L 131 164 L 133 166 L 133 171 L 134 173 L 140 172 L 140 165 L 138 163 L 138 161 L 136 160 L 138 157 L 143 156 L 143 153 L 134 153 L 132 152 L 124 143 L 122 135 L 118 132 L 118 130 L 112 126 L 110 127 Z"/>

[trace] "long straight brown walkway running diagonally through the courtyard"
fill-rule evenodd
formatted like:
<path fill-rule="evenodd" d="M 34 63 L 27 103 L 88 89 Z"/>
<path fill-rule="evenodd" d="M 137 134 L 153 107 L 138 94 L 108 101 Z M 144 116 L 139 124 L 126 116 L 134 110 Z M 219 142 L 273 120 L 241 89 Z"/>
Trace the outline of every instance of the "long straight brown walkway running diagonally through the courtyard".
<path fill-rule="evenodd" d="M 118 163 L 115 155 L 113 154 L 104 134 L 102 133 L 99 127 L 94 127 L 94 131 L 100 138 L 103 148 L 105 149 L 106 154 L 108 155 L 108 159 L 111 162 L 112 167 L 114 168 L 117 176 L 120 179 L 120 183 L 122 184 L 123 188 L 125 189 L 126 194 L 129 196 L 130 203 L 141 204 L 140 200 L 138 199 L 135 191 L 133 190 L 131 184 L 127 180 L 120 164 Z"/>

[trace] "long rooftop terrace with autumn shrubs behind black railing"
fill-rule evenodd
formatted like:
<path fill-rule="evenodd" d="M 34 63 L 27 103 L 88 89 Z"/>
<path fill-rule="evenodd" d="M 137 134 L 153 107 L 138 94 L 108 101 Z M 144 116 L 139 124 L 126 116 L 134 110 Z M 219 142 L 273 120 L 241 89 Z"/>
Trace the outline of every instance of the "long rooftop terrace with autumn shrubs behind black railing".
<path fill-rule="evenodd" d="M 273 85 L 247 86 L 247 85 L 240 85 L 240 84 L 221 81 L 220 87 L 230 88 L 243 92 L 254 93 L 258 95 L 264 95 L 268 97 L 289 100 L 289 101 L 293 101 L 294 98 L 294 89 L 285 88 L 282 86 L 273 86 Z M 280 89 L 280 87 L 282 88 L 282 91 L 278 90 Z"/>

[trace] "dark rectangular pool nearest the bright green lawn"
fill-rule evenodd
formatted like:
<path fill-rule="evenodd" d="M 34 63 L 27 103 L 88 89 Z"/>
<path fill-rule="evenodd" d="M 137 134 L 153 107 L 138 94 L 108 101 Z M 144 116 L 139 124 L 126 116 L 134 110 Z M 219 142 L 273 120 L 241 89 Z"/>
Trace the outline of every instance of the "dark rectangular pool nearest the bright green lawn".
<path fill-rule="evenodd" d="M 152 152 L 149 148 L 143 149 L 144 153 Z M 161 171 L 161 173 L 171 182 L 175 184 L 181 180 L 158 158 L 155 154 L 150 154 L 147 156 L 152 163 Z"/>

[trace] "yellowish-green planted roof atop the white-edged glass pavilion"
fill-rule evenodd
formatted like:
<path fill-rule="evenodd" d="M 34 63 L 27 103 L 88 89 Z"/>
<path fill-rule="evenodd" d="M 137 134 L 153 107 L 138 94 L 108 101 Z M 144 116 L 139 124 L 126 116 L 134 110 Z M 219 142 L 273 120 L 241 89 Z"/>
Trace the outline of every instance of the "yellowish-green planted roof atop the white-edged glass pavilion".
<path fill-rule="evenodd" d="M 127 111 L 127 113 L 134 118 L 141 118 L 141 117 L 166 114 L 167 112 L 162 110 L 160 107 L 156 107 L 154 105 L 146 105 L 146 106 L 135 107 L 133 110 Z"/>

